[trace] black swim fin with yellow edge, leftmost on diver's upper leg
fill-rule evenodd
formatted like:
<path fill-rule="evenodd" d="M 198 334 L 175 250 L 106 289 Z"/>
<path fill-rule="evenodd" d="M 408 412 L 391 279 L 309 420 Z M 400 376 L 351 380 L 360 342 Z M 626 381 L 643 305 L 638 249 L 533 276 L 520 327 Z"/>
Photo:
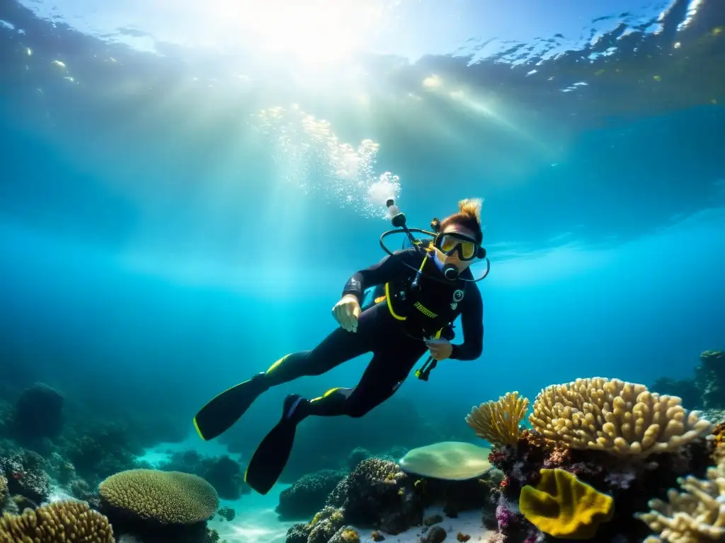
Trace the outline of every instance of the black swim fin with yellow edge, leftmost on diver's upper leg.
<path fill-rule="evenodd" d="M 213 397 L 196 413 L 194 428 L 199 437 L 209 441 L 220 436 L 239 420 L 254 400 L 267 390 L 265 374 L 257 374 Z"/>

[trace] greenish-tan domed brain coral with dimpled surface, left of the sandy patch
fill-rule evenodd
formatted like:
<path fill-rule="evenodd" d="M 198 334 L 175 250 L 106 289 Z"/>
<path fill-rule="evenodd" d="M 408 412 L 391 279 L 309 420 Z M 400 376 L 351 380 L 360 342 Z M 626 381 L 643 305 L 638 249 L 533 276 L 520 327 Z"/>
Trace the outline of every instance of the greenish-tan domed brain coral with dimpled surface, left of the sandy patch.
<path fill-rule="evenodd" d="M 99 493 L 104 505 L 160 524 L 206 521 L 219 507 L 219 497 L 211 484 L 180 471 L 121 471 L 101 482 Z"/>

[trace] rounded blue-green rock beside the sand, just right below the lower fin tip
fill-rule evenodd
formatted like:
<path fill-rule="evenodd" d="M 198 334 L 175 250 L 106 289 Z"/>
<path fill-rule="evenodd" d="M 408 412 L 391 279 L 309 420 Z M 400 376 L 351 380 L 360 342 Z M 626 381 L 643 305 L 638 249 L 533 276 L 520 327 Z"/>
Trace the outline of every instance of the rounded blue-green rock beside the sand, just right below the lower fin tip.
<path fill-rule="evenodd" d="M 281 518 L 309 518 L 344 478 L 343 472 L 331 469 L 309 473 L 281 492 L 276 512 Z"/>

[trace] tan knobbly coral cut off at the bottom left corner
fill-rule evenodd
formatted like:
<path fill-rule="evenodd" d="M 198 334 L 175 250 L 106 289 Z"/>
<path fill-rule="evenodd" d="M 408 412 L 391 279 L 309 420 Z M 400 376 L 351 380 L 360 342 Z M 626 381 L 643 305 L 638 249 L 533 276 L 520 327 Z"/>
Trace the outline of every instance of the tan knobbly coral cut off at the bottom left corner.
<path fill-rule="evenodd" d="M 0 543 L 114 543 L 108 519 L 86 502 L 63 501 L 0 518 Z"/>

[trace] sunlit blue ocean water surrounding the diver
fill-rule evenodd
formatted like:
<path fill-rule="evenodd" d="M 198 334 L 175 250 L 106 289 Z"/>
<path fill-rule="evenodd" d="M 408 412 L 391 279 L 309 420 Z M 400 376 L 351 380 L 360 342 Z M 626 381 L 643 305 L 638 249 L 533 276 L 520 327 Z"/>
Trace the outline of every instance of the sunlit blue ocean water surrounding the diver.
<path fill-rule="evenodd" d="M 64 402 L 50 438 L 7 418 L 0 450 L 59 455 L 91 489 L 175 451 L 243 473 L 287 394 L 353 387 L 370 356 L 212 442 L 192 418 L 336 327 L 385 254 L 386 198 L 422 228 L 484 199 L 483 354 L 305 421 L 273 492 L 223 499 L 228 541 L 282 541 L 279 493 L 355 447 L 480 445 L 465 416 L 506 392 L 602 376 L 705 407 L 653 387 L 725 344 L 724 8 L 4 0 L 0 416 L 36 383 Z M 98 455 L 74 460 L 84 436 Z"/>

